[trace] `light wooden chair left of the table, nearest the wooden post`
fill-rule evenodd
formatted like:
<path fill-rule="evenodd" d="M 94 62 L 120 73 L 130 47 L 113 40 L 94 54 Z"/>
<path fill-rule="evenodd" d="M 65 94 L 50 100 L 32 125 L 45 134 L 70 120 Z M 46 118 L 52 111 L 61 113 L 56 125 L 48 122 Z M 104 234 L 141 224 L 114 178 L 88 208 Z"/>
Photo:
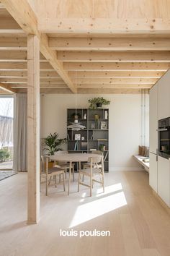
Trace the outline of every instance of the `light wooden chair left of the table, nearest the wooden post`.
<path fill-rule="evenodd" d="M 48 195 L 48 185 L 50 185 L 51 178 L 55 177 L 55 187 L 57 187 L 57 175 L 63 176 L 63 181 L 61 182 L 61 177 L 60 177 L 60 182 L 58 184 L 63 184 L 63 189 L 65 189 L 65 178 L 64 178 L 64 169 L 63 168 L 58 168 L 58 167 L 53 167 L 53 168 L 48 168 L 48 161 L 49 158 L 46 157 L 46 161 L 44 161 L 44 156 L 41 155 L 41 163 L 42 163 L 42 171 L 41 171 L 41 177 L 44 176 L 46 179 L 46 192 L 45 195 Z M 40 177 L 40 178 L 41 178 Z"/>

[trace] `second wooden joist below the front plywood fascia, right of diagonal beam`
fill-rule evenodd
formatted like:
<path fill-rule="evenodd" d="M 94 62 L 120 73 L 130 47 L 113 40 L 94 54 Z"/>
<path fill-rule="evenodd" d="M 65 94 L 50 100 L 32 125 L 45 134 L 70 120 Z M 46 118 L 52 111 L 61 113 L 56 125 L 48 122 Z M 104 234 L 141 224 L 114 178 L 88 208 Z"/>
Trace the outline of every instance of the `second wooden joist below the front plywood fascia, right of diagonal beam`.
<path fill-rule="evenodd" d="M 170 62 L 170 51 L 58 51 L 64 62 Z"/>

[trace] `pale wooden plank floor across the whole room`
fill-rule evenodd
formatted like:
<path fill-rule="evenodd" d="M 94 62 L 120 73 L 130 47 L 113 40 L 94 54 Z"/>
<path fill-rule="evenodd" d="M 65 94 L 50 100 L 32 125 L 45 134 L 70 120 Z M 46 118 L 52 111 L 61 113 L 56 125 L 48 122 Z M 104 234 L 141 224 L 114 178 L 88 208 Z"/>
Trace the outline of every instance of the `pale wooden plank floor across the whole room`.
<path fill-rule="evenodd" d="M 105 174 L 106 192 L 71 183 L 71 195 L 41 189 L 41 219 L 27 226 L 27 174 L 0 182 L 2 256 L 169 256 L 170 217 L 153 196 L 144 171 Z M 77 177 L 76 177 L 77 180 Z M 109 237 L 61 237 L 59 230 L 109 230 Z"/>

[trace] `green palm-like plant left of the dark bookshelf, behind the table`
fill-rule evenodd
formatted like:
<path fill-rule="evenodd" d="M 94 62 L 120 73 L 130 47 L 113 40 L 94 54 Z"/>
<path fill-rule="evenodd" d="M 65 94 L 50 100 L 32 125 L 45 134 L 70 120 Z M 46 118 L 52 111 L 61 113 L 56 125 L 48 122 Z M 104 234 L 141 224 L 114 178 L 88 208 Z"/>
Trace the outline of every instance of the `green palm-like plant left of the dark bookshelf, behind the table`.
<path fill-rule="evenodd" d="M 55 151 L 62 150 L 61 148 L 58 148 L 61 144 L 64 144 L 67 142 L 66 138 L 64 139 L 58 139 L 58 133 L 54 132 L 52 135 L 48 135 L 44 139 L 44 144 L 45 144 L 45 150 L 48 151 L 48 155 L 54 155 Z"/>

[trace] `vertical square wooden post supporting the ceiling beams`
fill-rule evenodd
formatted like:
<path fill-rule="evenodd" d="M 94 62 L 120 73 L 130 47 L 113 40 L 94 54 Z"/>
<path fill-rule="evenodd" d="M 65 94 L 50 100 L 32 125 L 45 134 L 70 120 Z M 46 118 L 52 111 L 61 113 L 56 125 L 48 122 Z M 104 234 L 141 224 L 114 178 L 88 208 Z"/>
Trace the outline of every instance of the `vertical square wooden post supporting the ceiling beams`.
<path fill-rule="evenodd" d="M 40 218 L 40 40 L 27 36 L 27 223 Z"/>

